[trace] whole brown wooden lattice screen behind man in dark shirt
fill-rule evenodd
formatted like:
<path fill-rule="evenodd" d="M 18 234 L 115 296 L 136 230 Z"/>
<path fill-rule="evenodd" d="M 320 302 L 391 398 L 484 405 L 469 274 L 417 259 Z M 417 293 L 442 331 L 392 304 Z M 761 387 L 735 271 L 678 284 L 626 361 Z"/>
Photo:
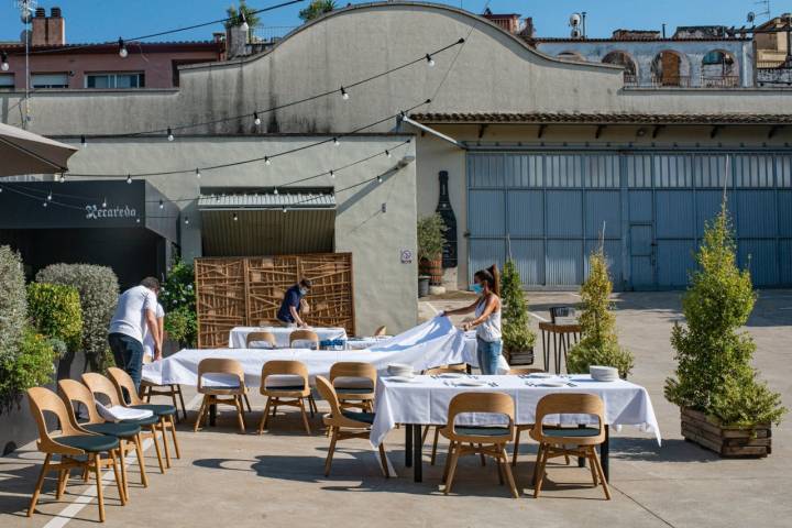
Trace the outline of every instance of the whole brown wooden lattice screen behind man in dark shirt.
<path fill-rule="evenodd" d="M 352 254 L 323 253 L 250 258 L 197 258 L 198 346 L 228 346 L 233 327 L 275 322 L 286 290 L 314 284 L 306 320 L 354 334 Z"/>

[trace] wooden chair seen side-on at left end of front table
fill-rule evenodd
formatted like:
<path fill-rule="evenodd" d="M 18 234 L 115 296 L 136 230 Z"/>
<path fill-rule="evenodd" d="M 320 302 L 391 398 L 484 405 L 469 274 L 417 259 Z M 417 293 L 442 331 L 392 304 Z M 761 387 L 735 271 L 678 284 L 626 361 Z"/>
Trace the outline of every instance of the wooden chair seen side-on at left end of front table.
<path fill-rule="evenodd" d="M 323 376 L 317 376 L 316 384 L 319 395 L 330 405 L 330 413 L 322 417 L 324 426 L 330 430 L 330 449 L 328 450 L 328 455 L 324 461 L 324 476 L 329 476 L 332 457 L 336 452 L 336 443 L 339 440 L 350 438 L 371 438 L 371 427 L 372 424 L 374 424 L 375 415 L 374 413 L 343 410 L 332 383 Z M 391 472 L 388 471 L 387 458 L 385 457 L 385 444 L 381 443 L 378 450 L 380 463 L 387 479 L 391 476 Z"/>

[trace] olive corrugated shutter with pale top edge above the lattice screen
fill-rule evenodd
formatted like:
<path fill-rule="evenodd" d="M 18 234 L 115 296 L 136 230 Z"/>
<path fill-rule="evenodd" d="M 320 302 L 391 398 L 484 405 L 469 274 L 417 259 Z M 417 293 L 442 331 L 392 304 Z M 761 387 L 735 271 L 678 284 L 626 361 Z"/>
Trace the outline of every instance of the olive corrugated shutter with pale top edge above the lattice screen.
<path fill-rule="evenodd" d="M 201 196 L 205 256 L 333 251 L 336 197 L 330 191 Z"/>

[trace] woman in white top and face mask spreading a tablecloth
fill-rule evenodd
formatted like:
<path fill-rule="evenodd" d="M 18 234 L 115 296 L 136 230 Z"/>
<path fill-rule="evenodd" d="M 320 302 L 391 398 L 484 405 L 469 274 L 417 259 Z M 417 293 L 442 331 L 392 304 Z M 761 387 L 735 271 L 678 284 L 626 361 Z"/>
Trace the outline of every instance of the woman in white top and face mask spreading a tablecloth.
<path fill-rule="evenodd" d="M 471 289 L 479 294 L 475 302 L 464 308 L 449 310 L 443 316 L 461 316 L 473 311 L 475 319 L 465 322 L 463 330 L 475 329 L 476 355 L 482 374 L 497 374 L 498 359 L 503 351 L 501 332 L 501 274 L 497 266 L 479 270 L 473 275 Z"/>

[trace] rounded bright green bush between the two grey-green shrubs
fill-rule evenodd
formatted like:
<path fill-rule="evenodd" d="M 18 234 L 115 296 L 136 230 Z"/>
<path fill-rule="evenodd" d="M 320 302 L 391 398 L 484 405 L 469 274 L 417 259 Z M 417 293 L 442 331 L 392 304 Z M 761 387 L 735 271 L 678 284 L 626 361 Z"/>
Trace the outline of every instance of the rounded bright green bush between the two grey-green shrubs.
<path fill-rule="evenodd" d="M 72 352 L 79 350 L 82 341 L 82 312 L 79 293 L 74 286 L 30 284 L 28 316 L 40 333 L 65 343 Z"/>

